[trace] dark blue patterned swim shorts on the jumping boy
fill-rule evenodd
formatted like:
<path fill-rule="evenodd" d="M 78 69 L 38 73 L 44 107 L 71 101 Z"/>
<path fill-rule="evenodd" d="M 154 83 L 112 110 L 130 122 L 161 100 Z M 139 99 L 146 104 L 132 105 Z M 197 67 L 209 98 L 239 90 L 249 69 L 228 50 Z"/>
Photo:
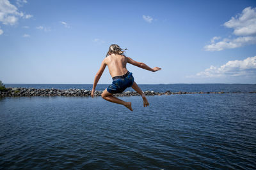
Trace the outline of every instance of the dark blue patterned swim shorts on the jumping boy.
<path fill-rule="evenodd" d="M 131 87 L 134 82 L 132 73 L 129 71 L 122 76 L 115 76 L 112 78 L 113 82 L 107 88 L 107 91 L 111 94 L 122 93 L 127 87 Z"/>

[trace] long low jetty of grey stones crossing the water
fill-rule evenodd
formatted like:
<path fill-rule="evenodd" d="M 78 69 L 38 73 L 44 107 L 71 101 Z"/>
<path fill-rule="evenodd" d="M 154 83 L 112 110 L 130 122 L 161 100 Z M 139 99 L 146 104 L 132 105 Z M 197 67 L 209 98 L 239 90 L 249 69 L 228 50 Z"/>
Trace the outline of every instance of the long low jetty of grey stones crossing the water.
<path fill-rule="evenodd" d="M 100 96 L 103 91 L 95 91 L 94 96 Z M 228 93 L 256 93 L 256 92 L 154 92 L 145 91 L 146 96 L 162 96 L 174 94 L 228 94 Z M 84 89 L 34 89 L 34 88 L 12 88 L 8 87 L 4 91 L 0 91 L 0 97 L 11 96 L 90 96 L 91 90 Z M 126 91 L 114 96 L 140 96 L 138 92 Z"/>

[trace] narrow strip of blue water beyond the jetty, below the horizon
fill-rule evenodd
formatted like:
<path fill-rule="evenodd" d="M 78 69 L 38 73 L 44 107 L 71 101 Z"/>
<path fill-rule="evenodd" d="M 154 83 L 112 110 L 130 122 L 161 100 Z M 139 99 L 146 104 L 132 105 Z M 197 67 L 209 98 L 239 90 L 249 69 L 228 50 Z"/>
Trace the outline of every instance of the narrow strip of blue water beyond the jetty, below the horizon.
<path fill-rule="evenodd" d="M 5 84 L 6 87 L 26 87 L 35 89 L 87 89 L 92 90 L 90 84 Z M 96 90 L 105 90 L 108 85 L 99 84 Z M 141 90 L 155 92 L 255 92 L 256 84 L 160 84 L 140 85 Z M 131 88 L 127 89 L 131 90 Z"/>

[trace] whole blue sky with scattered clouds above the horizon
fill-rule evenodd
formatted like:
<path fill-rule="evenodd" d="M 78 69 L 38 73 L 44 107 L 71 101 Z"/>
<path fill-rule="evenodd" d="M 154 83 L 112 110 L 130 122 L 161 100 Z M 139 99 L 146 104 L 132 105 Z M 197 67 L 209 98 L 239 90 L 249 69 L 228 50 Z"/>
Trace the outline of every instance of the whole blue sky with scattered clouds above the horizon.
<path fill-rule="evenodd" d="M 140 84 L 256 83 L 256 1 L 0 0 L 3 83 L 93 83 L 113 43 Z"/>

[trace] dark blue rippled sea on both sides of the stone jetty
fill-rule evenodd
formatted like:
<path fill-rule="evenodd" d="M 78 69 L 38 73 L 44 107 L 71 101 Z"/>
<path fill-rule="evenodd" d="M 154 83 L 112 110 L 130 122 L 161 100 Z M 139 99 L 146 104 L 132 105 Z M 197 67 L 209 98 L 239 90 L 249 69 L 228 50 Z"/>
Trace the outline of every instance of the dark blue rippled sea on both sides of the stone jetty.
<path fill-rule="evenodd" d="M 134 111 L 101 97 L 1 97 L 0 169 L 256 169 L 255 84 L 139 86 L 230 93 L 147 96 L 146 108 L 140 96 L 119 97 Z"/>

